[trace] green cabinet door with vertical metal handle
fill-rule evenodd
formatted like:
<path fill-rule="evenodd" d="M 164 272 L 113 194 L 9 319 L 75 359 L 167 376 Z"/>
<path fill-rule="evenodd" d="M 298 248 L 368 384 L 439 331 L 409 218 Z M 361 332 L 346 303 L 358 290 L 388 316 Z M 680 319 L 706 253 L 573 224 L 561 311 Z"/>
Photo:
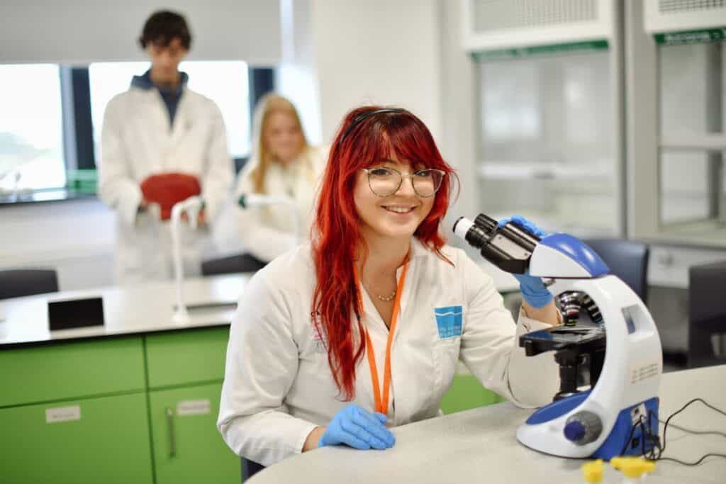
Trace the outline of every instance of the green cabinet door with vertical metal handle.
<path fill-rule="evenodd" d="M 240 483 L 240 457 L 216 427 L 221 383 L 150 392 L 157 484 Z"/>

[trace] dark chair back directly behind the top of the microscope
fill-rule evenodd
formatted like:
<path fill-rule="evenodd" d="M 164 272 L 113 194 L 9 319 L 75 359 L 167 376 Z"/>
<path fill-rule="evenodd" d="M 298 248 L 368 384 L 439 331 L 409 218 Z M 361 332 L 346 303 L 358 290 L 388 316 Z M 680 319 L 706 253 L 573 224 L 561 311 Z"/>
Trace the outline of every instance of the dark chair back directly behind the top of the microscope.
<path fill-rule="evenodd" d="M 613 276 L 622 279 L 647 304 L 648 245 L 624 239 L 587 239 L 583 242 L 600 255 Z"/>

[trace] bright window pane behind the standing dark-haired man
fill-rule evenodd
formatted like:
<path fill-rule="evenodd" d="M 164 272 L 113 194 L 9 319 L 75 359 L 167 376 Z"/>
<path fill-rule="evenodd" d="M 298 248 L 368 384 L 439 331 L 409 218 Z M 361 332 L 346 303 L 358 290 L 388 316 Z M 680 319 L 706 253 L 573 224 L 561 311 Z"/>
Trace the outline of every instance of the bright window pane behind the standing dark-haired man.
<path fill-rule="evenodd" d="M 96 158 L 106 105 L 116 94 L 129 89 L 131 78 L 142 75 L 149 62 L 104 62 L 89 66 L 91 116 Z M 240 61 L 187 61 L 179 70 L 189 74 L 189 89 L 212 99 L 227 127 L 230 157 L 248 155 L 250 149 L 250 102 L 248 68 Z"/>

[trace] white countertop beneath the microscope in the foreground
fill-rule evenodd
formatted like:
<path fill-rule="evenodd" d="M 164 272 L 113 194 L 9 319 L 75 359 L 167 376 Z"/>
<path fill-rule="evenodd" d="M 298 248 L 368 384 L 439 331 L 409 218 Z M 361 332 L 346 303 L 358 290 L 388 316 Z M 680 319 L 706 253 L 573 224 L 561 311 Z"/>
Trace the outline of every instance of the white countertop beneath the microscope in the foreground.
<path fill-rule="evenodd" d="M 726 365 L 674 372 L 661 380 L 661 420 L 691 398 L 704 398 L 726 409 Z M 532 413 L 499 403 L 416 422 L 393 429 L 396 445 L 386 451 L 325 447 L 274 464 L 250 484 L 295 483 L 532 483 L 580 484 L 582 460 L 562 459 L 532 451 L 515 438 L 515 430 Z M 726 432 L 726 416 L 693 403 L 672 420 L 693 430 Z M 661 424 L 662 438 L 662 424 Z M 685 461 L 703 454 L 726 454 L 721 435 L 689 435 L 669 425 L 666 451 Z M 621 483 L 608 464 L 603 483 Z M 724 484 L 726 459 L 709 457 L 697 467 L 656 463 L 645 484 Z"/>

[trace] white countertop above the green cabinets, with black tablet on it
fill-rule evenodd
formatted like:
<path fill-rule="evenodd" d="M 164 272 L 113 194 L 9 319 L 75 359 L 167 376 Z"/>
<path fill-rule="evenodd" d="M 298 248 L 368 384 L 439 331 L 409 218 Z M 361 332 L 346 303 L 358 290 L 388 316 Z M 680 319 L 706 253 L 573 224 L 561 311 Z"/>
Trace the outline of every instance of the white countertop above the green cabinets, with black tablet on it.
<path fill-rule="evenodd" d="M 174 282 L 144 282 L 122 287 L 53 292 L 3 300 L 0 301 L 0 348 L 3 345 L 19 343 L 229 324 L 234 316 L 237 300 L 249 279 L 249 274 L 234 274 L 185 281 L 184 298 L 190 319 L 187 324 L 175 324 L 171 321 L 176 300 Z M 49 330 L 49 302 L 98 297 L 103 298 L 103 326 L 54 332 Z"/>

